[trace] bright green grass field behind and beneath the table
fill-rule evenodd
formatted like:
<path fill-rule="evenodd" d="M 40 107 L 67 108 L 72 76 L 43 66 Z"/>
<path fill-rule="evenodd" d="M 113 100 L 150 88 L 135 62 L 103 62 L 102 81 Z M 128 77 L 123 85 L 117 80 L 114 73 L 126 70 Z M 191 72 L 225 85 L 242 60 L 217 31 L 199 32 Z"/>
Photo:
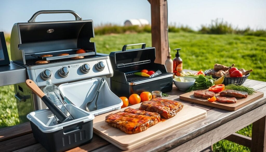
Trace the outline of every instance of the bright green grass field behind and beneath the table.
<path fill-rule="evenodd" d="M 109 54 L 121 50 L 124 44 L 145 42 L 151 46 L 151 34 L 96 35 L 97 52 Z M 266 38 L 243 35 L 205 35 L 195 33 L 169 33 L 171 50 L 181 48 L 183 68 L 200 70 L 213 68 L 215 63 L 235 64 L 235 67 L 253 69 L 249 79 L 266 81 Z M 8 46 L 9 47 L 9 46 Z M 136 46 L 139 47 L 139 46 Z M 134 47 L 134 48 L 136 48 Z M 130 49 L 130 47 L 128 48 Z M 175 52 L 171 55 L 174 57 Z M 252 86 L 251 86 L 252 87 Z M 14 87 L 0 87 L 0 128 L 19 123 L 14 99 Z M 251 137 L 252 126 L 238 133 Z M 215 151 L 250 151 L 247 147 L 223 140 L 214 144 Z"/>

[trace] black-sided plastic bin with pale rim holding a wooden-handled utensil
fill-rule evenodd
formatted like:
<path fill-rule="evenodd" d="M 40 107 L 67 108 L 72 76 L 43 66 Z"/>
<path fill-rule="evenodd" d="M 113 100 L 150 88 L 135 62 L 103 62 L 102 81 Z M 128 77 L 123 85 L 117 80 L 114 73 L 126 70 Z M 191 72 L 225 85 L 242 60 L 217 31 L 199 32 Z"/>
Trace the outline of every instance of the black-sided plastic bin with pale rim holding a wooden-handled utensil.
<path fill-rule="evenodd" d="M 27 115 L 34 138 L 48 151 L 65 151 L 92 140 L 94 115 L 72 104 L 65 106 L 75 119 L 62 124 L 55 123 L 49 109 Z"/>

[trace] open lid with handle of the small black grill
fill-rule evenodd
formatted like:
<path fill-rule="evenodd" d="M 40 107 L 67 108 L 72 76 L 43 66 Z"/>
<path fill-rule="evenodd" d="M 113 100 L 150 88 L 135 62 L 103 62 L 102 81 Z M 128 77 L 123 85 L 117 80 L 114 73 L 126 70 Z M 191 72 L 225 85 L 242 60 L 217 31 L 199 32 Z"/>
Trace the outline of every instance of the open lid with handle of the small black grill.
<path fill-rule="evenodd" d="M 127 46 L 142 45 L 141 49 L 126 50 Z M 122 51 L 111 52 L 110 59 L 113 67 L 122 68 L 132 65 L 154 63 L 155 48 L 145 48 L 146 43 L 124 45 Z"/>

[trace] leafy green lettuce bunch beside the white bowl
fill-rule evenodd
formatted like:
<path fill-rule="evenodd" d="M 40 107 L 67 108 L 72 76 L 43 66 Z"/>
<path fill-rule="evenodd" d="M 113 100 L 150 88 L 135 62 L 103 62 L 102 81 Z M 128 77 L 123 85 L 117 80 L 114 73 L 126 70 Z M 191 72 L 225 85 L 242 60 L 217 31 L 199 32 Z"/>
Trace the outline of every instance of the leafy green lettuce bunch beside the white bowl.
<path fill-rule="evenodd" d="M 209 88 L 214 85 L 214 79 L 211 76 L 204 76 L 201 74 L 199 76 L 185 76 L 185 77 L 192 77 L 196 79 L 195 84 L 192 85 L 186 92 L 190 92 L 197 89 Z"/>

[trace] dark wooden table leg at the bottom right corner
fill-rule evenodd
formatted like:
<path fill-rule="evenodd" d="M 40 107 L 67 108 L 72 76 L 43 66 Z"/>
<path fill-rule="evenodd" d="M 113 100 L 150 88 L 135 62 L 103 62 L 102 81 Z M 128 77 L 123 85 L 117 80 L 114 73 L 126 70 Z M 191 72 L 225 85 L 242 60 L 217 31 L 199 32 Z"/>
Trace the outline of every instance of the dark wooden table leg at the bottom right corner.
<path fill-rule="evenodd" d="M 266 152 L 266 116 L 253 122 L 251 152 Z"/>

